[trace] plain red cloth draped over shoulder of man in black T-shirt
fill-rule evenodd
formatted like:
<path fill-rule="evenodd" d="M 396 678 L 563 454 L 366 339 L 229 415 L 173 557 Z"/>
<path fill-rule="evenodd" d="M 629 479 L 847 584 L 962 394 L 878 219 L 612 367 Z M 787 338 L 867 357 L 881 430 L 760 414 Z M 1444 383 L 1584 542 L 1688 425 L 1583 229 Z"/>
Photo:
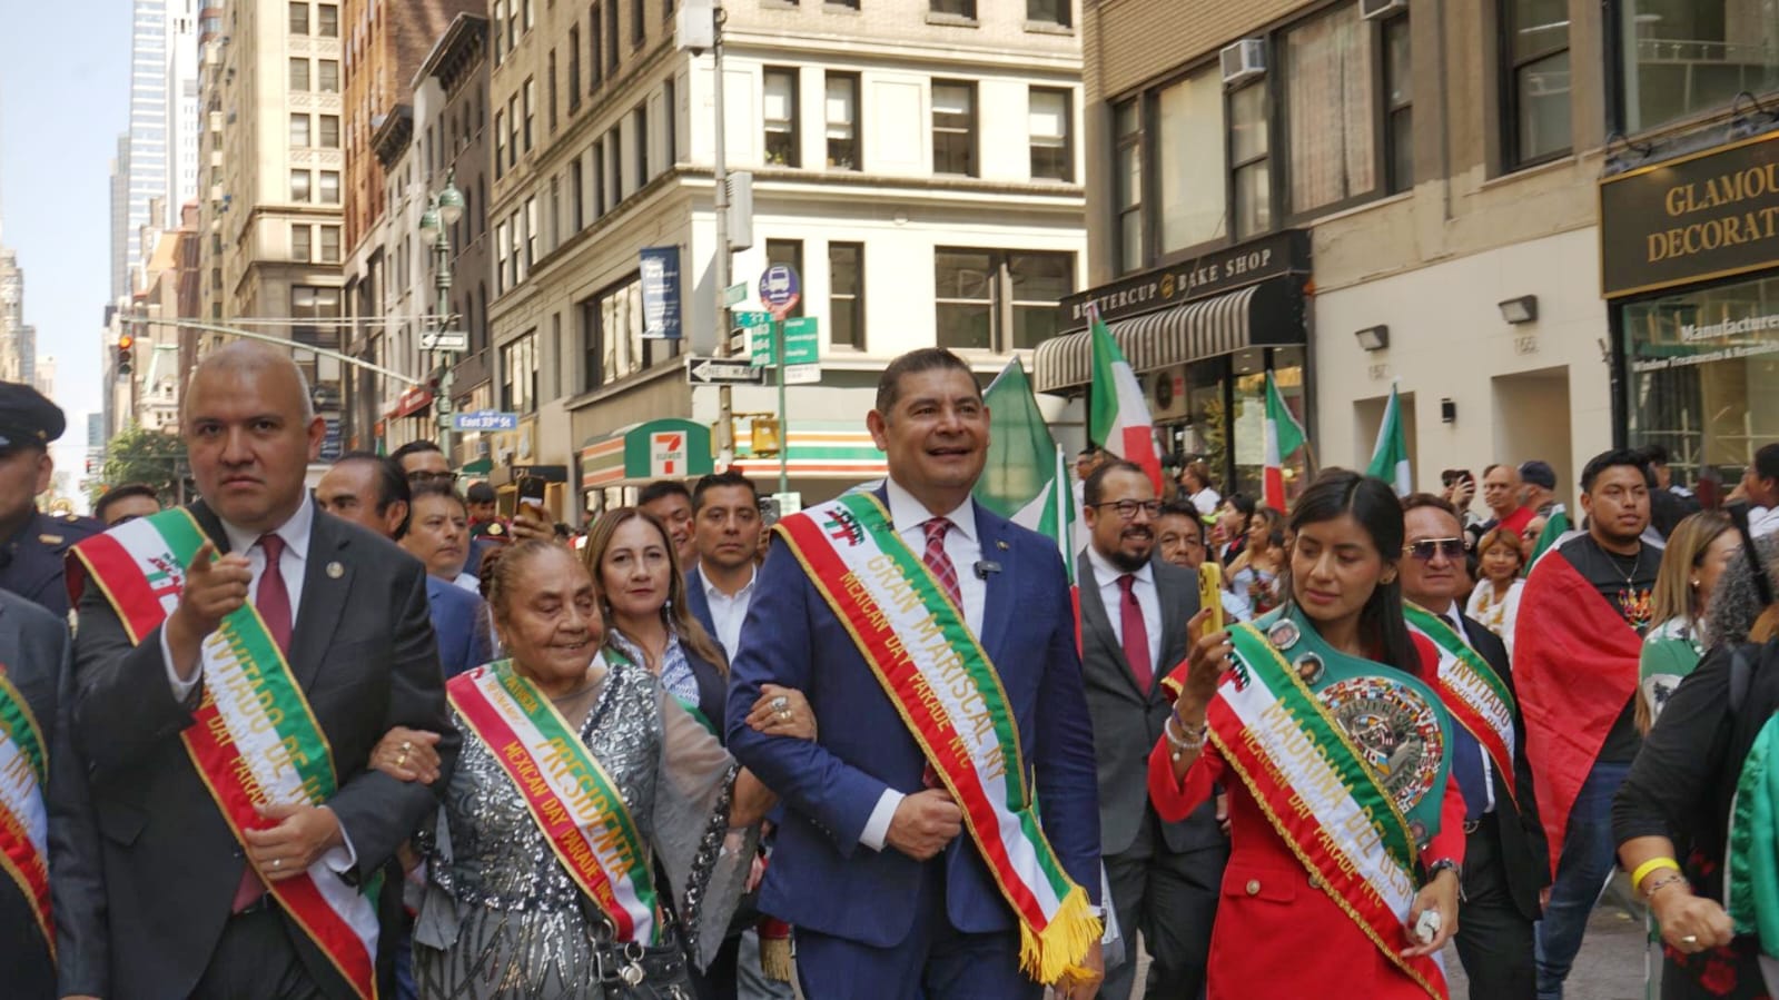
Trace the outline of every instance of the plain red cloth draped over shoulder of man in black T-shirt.
<path fill-rule="evenodd" d="M 1553 870 L 1582 783 L 1637 692 L 1640 651 L 1637 630 L 1562 548 L 1539 560 L 1514 625 L 1514 687 Z"/>

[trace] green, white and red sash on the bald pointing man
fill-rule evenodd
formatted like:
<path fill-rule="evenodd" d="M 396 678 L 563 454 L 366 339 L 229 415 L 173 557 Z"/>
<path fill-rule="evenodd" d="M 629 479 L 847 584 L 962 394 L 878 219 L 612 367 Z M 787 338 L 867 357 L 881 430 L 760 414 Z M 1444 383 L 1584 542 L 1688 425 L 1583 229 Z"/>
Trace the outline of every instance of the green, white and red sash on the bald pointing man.
<path fill-rule="evenodd" d="M 85 573 L 142 642 L 178 607 L 185 568 L 208 541 L 183 507 L 123 523 L 73 548 L 71 589 Z M 338 788 L 333 749 L 290 664 L 249 603 L 203 644 L 203 701 L 181 733 L 185 751 L 237 840 L 270 826 L 254 806 L 322 804 Z M 269 881 L 272 899 L 365 1000 L 377 996 L 377 891 L 349 886 L 326 861 Z"/>

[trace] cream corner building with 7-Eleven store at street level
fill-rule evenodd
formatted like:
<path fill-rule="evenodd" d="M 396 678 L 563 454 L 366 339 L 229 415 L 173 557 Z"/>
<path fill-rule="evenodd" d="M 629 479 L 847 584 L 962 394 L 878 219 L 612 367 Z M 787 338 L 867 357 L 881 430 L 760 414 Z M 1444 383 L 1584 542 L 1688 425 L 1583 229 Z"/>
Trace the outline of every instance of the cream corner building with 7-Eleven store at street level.
<path fill-rule="evenodd" d="M 550 470 L 569 521 L 635 486 L 639 470 L 608 468 L 616 432 L 717 420 L 717 390 L 690 388 L 685 361 L 728 335 L 715 75 L 712 53 L 676 46 L 672 9 L 491 7 L 486 404 L 518 415 L 493 436 L 491 479 Z M 769 267 L 801 274 L 792 317 L 817 324 L 818 381 L 790 388 L 785 445 L 806 502 L 881 475 L 865 413 L 890 358 L 938 343 L 996 372 L 1051 338 L 1083 286 L 1078 18 L 1067 0 L 729 5 L 726 164 L 753 173 L 733 308 L 763 308 Z M 774 390 L 735 390 L 737 413 L 774 409 Z M 697 468 L 708 445 L 678 454 Z M 735 457 L 776 479 L 776 459 Z"/>

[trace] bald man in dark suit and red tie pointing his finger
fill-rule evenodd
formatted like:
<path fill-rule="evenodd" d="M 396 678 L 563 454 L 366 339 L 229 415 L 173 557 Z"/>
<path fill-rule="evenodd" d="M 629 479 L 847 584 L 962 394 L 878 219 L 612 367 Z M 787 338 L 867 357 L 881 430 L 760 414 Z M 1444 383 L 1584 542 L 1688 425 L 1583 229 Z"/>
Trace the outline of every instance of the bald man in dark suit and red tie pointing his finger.
<path fill-rule="evenodd" d="M 425 571 L 388 539 L 320 516 L 310 500 L 304 472 L 324 427 L 288 356 L 253 343 L 212 352 L 192 375 L 181 429 L 203 502 L 121 525 L 76 550 L 85 580 L 139 585 L 144 575 L 130 577 L 137 564 L 128 557 L 151 552 L 141 532 L 167 537 L 162 552 L 178 550 L 171 536 L 181 530 L 183 544 L 196 546 L 183 573 L 167 566 L 141 589 L 157 594 L 171 578 L 176 603 L 132 601 L 117 587 L 85 584 L 76 605 L 75 738 L 91 769 L 112 938 L 103 995 L 363 996 L 370 979 L 390 982 L 390 950 L 366 941 L 379 923 L 395 925 L 395 849 L 436 806 L 432 788 L 447 785 L 374 772 L 370 751 L 395 726 L 441 733 L 448 776 L 457 747 Z M 244 605 L 258 614 L 237 616 Z M 269 642 L 244 651 L 212 635 Z M 196 763 L 206 740 L 242 763 L 274 756 L 256 756 L 251 733 L 217 735 L 217 721 L 229 717 L 224 699 L 229 712 L 256 705 L 240 689 L 224 690 L 229 678 L 254 683 L 240 664 L 263 665 L 285 683 L 283 701 L 258 705 L 295 705 L 292 689 L 306 703 L 311 721 L 297 724 L 326 742 L 327 794 L 249 795 L 258 819 L 251 804 L 224 813 L 212 788 L 226 785 L 228 769 Z M 290 712 L 265 719 L 278 733 L 292 724 Z M 238 770 L 235 781 L 265 790 L 254 783 L 260 772 L 244 779 Z M 365 890 L 377 875 L 382 893 L 374 899 Z M 299 927 L 297 913 L 317 911 L 304 909 L 292 886 L 347 900 L 327 906 L 349 915 L 350 945 L 359 948 L 352 957 L 368 952 L 372 970 L 342 975 L 345 945 Z"/>

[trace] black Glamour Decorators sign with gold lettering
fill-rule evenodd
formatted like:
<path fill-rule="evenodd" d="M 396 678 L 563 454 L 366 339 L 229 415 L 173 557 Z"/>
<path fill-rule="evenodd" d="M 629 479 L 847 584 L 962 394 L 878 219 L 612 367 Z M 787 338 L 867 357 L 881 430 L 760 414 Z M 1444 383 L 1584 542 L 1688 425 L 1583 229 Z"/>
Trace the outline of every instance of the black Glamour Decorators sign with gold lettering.
<path fill-rule="evenodd" d="M 1599 183 L 1608 299 L 1779 267 L 1779 132 Z"/>

